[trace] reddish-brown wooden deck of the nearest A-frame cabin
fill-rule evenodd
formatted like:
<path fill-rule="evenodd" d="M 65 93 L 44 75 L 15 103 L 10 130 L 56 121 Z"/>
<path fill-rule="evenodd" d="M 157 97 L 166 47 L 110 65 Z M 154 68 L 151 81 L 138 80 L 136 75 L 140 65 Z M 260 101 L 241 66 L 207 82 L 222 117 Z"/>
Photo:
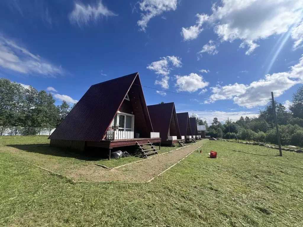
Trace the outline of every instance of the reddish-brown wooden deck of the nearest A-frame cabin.
<path fill-rule="evenodd" d="M 90 147 L 103 147 L 103 148 L 115 148 L 121 146 L 135 146 L 136 143 L 161 143 L 161 138 L 134 138 L 125 140 L 101 140 L 100 142 L 86 142 L 86 146 Z M 178 142 L 177 142 L 178 143 Z"/>

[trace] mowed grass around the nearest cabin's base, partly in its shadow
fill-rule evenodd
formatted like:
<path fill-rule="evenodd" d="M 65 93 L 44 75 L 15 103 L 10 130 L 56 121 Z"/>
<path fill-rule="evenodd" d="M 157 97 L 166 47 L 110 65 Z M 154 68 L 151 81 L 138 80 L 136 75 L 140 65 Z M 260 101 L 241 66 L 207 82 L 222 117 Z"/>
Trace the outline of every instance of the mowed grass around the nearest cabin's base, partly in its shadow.
<path fill-rule="evenodd" d="M 50 147 L 48 146 L 50 140 L 47 138 L 48 136 L 0 136 L 0 151 L 14 151 L 14 153 L 18 153 L 20 157 L 29 162 L 33 162 L 38 166 L 58 173 L 88 165 L 87 163 L 82 163 L 79 160 L 113 168 L 143 159 L 136 156 L 129 156 L 108 161 L 107 158 L 102 159 L 85 156 L 81 153 Z M 177 144 L 176 146 L 177 147 L 161 146 L 158 153 L 161 154 L 175 150 L 178 148 Z M 16 149 L 13 150 L 11 147 Z M 158 146 L 155 146 L 155 148 L 158 149 Z"/>

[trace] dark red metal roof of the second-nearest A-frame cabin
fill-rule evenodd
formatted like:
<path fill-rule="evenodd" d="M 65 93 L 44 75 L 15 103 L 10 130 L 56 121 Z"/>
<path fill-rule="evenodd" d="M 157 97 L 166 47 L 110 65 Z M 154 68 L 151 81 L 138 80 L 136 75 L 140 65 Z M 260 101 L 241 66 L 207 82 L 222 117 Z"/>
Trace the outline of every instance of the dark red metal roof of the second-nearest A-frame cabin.
<path fill-rule="evenodd" d="M 172 119 L 175 120 L 177 135 L 178 137 L 181 137 L 174 103 L 151 105 L 147 106 L 147 108 L 153 130 L 160 133 L 162 141 L 167 140 L 168 130 L 170 129 Z"/>

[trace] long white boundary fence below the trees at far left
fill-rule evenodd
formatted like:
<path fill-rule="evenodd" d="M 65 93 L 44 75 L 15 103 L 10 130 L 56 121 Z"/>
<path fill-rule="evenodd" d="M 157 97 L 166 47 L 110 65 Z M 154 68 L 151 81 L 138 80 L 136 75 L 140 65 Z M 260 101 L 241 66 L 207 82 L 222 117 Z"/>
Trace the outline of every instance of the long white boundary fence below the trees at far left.
<path fill-rule="evenodd" d="M 27 136 L 27 135 L 50 136 L 54 131 L 55 128 L 28 128 L 28 127 L 0 126 L 0 136 Z"/>

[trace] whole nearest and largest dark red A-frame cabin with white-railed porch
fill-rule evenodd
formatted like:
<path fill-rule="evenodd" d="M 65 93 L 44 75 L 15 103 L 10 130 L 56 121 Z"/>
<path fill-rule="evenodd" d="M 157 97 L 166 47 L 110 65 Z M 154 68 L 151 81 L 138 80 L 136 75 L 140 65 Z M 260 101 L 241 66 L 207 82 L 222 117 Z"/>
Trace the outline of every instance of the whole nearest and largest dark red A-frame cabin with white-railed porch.
<path fill-rule="evenodd" d="M 109 154 L 115 147 L 161 142 L 151 125 L 139 73 L 92 85 L 49 139 L 51 146 L 81 151 L 101 147 Z"/>

